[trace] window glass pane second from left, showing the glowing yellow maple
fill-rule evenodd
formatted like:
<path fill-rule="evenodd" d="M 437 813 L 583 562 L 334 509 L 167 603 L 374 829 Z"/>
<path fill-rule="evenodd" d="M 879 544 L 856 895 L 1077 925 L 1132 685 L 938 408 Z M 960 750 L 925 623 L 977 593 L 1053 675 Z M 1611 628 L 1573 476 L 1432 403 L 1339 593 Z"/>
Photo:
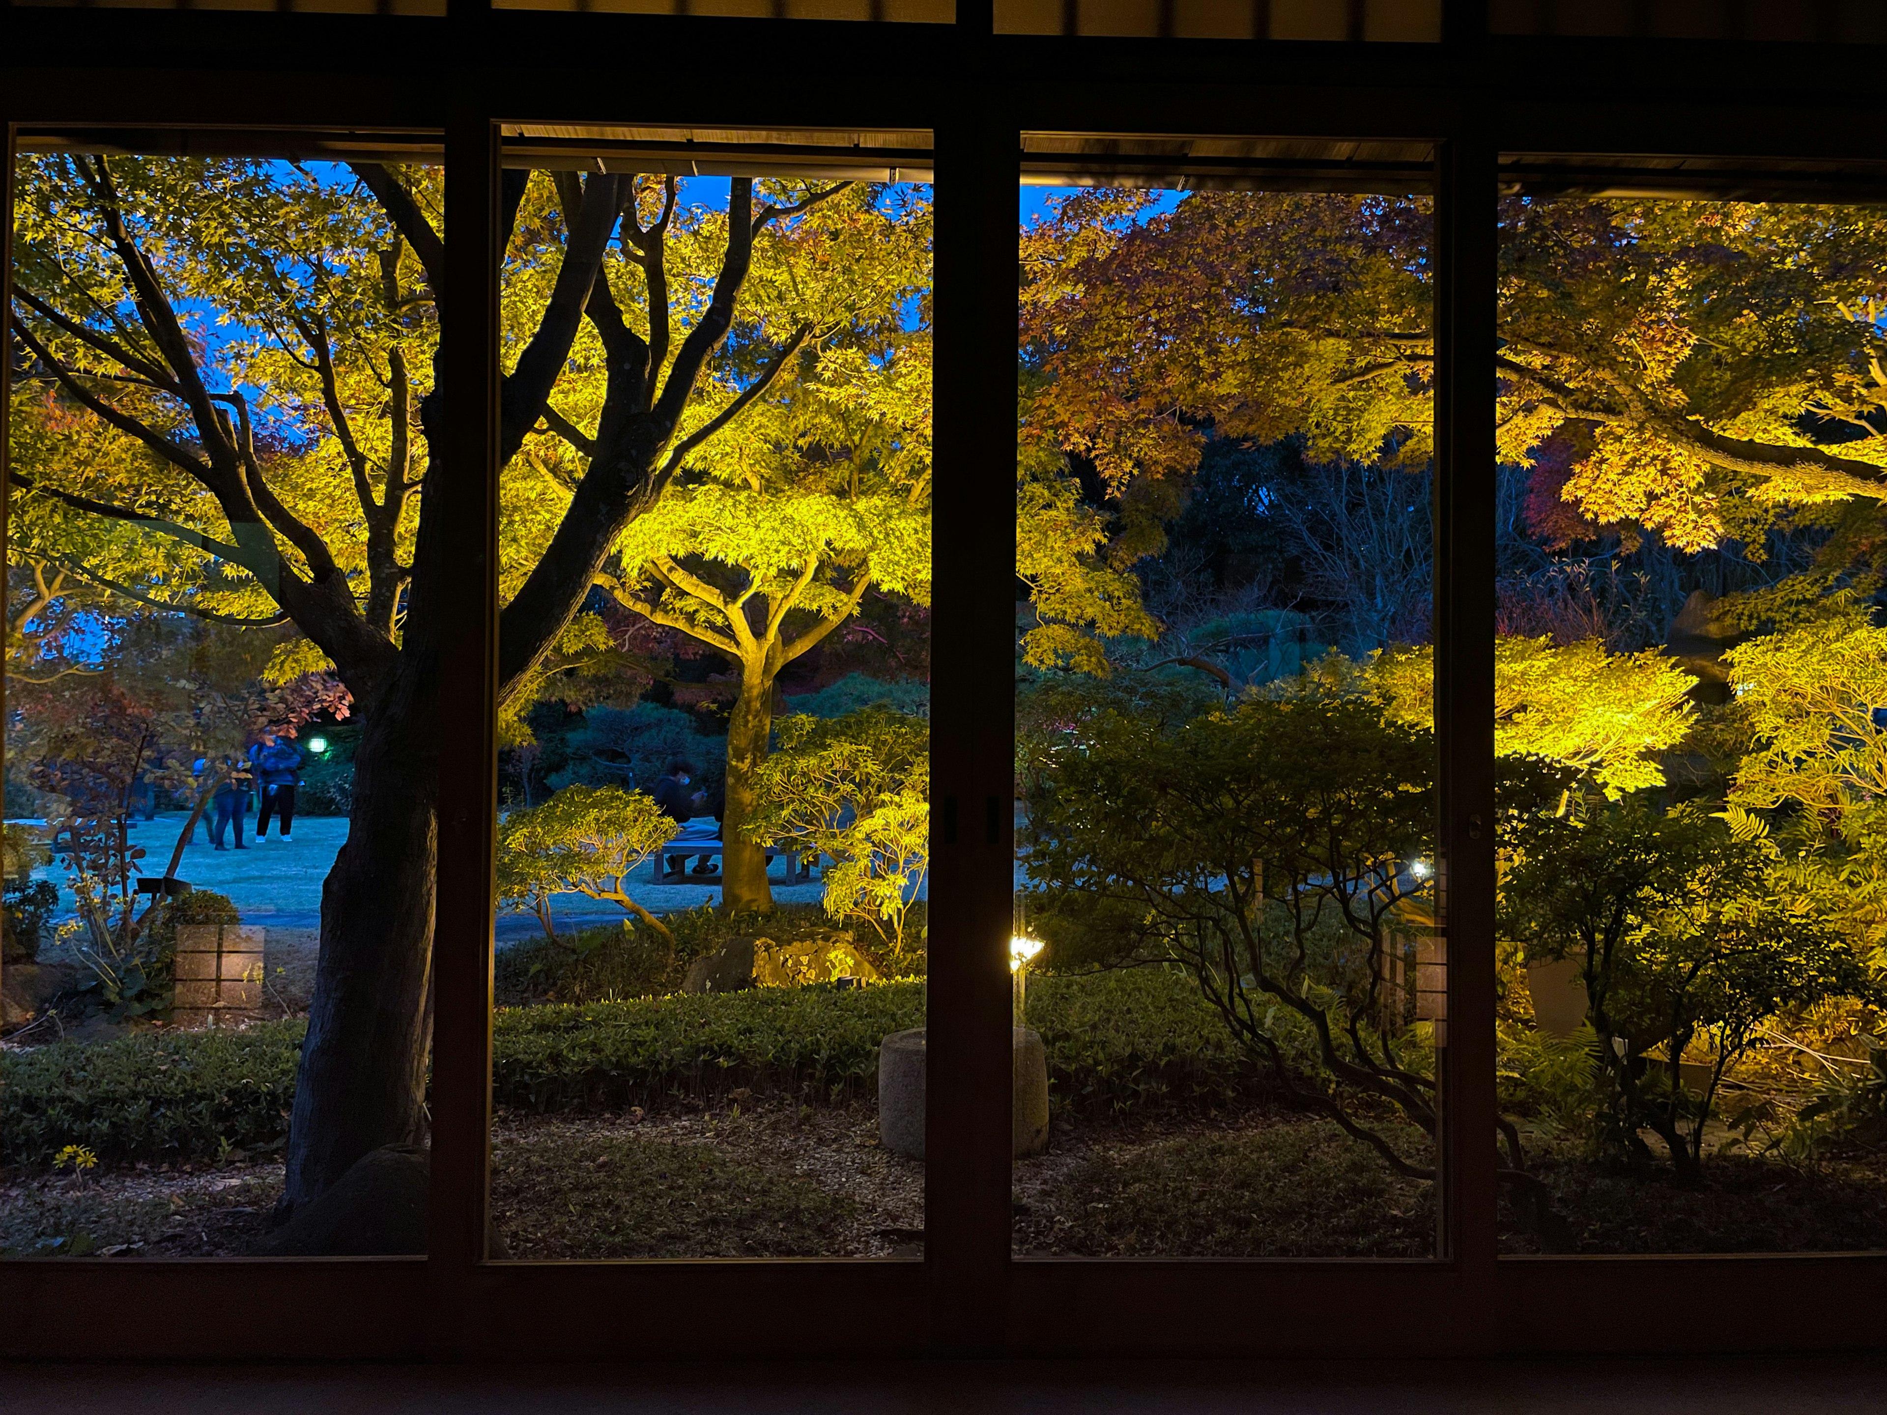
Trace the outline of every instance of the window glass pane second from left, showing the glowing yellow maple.
<path fill-rule="evenodd" d="M 719 138 L 506 172 L 513 1258 L 923 1245 L 930 189 Z"/>

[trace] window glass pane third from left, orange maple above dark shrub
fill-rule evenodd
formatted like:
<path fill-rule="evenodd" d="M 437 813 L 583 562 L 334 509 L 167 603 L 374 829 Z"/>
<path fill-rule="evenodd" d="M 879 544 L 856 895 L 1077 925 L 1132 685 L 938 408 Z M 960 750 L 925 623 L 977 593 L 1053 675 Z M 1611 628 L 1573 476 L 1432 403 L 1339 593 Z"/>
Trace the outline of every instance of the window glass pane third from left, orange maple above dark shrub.
<path fill-rule="evenodd" d="M 1019 1255 L 1434 1251 L 1428 240 L 1023 191 Z"/>

